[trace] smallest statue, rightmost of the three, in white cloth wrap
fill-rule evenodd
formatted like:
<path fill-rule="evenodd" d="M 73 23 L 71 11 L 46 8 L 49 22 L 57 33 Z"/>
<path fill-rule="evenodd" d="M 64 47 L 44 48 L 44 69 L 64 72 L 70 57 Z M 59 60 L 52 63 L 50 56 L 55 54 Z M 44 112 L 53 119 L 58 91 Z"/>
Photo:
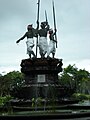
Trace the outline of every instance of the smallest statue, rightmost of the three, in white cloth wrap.
<path fill-rule="evenodd" d="M 49 46 L 48 46 L 47 58 L 49 58 L 50 53 L 52 53 L 52 57 L 53 57 L 53 58 L 54 58 L 54 56 L 55 56 L 55 52 L 56 52 L 55 43 L 57 42 L 57 41 L 54 39 L 54 35 L 55 35 L 55 34 L 56 34 L 56 29 L 55 29 L 55 32 L 53 32 L 52 29 L 49 30 L 49 38 L 50 38 L 50 41 L 49 41 Z"/>

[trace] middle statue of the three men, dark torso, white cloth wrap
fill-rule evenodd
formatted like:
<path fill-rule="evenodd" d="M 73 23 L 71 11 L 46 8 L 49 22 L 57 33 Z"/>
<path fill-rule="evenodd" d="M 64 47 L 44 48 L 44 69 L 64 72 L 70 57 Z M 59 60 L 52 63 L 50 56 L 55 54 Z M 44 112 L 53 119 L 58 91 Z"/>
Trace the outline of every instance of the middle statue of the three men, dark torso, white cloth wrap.
<path fill-rule="evenodd" d="M 47 42 L 47 32 L 49 30 L 48 22 L 41 22 L 41 29 L 38 30 L 39 34 L 39 52 L 41 55 L 41 58 L 45 57 L 45 54 L 47 53 L 48 49 L 48 42 Z"/>

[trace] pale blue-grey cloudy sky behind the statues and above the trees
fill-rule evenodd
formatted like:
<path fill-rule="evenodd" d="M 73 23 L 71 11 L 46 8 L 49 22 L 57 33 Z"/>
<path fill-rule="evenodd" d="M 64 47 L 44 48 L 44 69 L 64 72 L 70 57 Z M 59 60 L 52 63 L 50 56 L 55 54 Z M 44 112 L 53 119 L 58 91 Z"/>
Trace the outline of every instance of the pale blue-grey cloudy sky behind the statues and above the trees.
<path fill-rule="evenodd" d="M 54 0 L 57 45 L 55 58 L 63 59 L 63 68 L 75 64 L 90 71 L 90 0 Z M 40 0 L 40 19 L 53 25 L 52 0 Z M 26 38 L 16 41 L 37 24 L 37 0 L 0 0 L 0 73 L 21 69 L 22 59 L 29 58 Z M 36 39 L 35 39 L 36 43 Z M 34 47 L 35 52 L 35 47 Z M 38 57 L 39 50 L 38 50 Z"/>

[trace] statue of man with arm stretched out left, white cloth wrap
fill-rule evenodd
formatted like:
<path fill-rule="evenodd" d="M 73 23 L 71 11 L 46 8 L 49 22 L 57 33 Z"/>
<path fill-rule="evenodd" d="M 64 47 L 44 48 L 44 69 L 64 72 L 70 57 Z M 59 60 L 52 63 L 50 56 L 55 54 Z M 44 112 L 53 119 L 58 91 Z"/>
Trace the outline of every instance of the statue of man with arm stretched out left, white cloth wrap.
<path fill-rule="evenodd" d="M 26 45 L 27 45 L 27 54 L 31 58 L 31 54 L 33 55 L 34 58 L 36 58 L 36 55 L 34 51 L 32 50 L 34 47 L 34 39 L 33 37 L 36 37 L 36 30 L 32 27 L 31 25 L 27 26 L 27 32 L 21 37 L 19 40 L 16 41 L 16 43 L 19 43 L 21 40 L 23 40 L 25 37 L 27 37 Z"/>

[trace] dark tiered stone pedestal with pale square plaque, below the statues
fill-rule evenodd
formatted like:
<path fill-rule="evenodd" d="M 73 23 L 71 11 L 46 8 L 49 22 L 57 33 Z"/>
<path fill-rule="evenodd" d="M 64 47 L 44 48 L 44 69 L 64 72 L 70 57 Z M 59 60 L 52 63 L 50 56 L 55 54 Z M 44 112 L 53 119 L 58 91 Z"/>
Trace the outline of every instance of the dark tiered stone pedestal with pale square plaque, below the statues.
<path fill-rule="evenodd" d="M 58 82 L 58 73 L 62 71 L 61 59 L 24 59 L 21 62 L 21 72 L 25 75 L 25 85 L 22 86 L 19 97 L 57 98 L 62 89 Z"/>

